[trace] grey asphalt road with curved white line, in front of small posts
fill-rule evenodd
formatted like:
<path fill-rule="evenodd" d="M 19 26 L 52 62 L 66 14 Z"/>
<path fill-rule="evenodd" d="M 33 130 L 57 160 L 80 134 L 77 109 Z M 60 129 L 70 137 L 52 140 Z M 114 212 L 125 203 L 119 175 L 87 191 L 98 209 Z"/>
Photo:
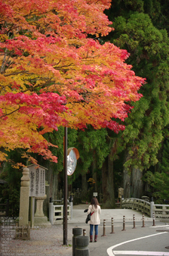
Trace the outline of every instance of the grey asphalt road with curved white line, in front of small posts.
<path fill-rule="evenodd" d="M 169 256 L 169 225 L 161 222 L 137 222 L 133 229 L 132 222 L 114 224 L 114 233 L 111 223 L 106 224 L 106 231 L 103 231 L 103 224 L 99 226 L 99 235 L 97 242 L 90 242 L 90 256 L 114 256 L 114 255 L 150 255 L 150 256 Z M 86 229 L 89 236 L 89 226 L 78 224 L 78 227 Z M 103 234 L 106 236 L 103 236 Z M 168 248 L 166 248 L 168 246 Z"/>

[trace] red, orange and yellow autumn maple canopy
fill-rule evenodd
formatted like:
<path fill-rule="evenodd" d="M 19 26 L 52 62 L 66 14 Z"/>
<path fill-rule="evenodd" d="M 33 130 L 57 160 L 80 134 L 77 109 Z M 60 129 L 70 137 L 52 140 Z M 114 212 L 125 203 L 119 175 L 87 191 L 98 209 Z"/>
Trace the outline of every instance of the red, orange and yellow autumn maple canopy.
<path fill-rule="evenodd" d="M 58 126 L 118 133 L 144 83 L 128 52 L 100 44 L 110 0 L 0 1 L 0 161 L 23 148 L 57 162 L 44 138 Z M 54 146 L 54 145 L 53 145 Z M 56 146 L 56 145 L 55 145 Z"/>

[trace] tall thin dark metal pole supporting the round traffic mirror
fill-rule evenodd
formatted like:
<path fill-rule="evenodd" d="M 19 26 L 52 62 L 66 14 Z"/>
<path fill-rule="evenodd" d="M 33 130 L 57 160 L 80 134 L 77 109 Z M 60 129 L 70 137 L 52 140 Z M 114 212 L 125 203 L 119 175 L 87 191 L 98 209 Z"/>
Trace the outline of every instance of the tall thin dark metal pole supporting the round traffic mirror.
<path fill-rule="evenodd" d="M 67 127 L 64 136 L 63 245 L 67 245 Z"/>

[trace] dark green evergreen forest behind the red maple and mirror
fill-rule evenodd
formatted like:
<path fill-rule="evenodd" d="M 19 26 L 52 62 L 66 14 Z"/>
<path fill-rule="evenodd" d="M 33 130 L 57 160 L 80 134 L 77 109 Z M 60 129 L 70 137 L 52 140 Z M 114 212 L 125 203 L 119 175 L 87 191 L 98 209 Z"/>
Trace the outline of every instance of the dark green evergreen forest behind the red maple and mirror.
<path fill-rule="evenodd" d="M 78 148 L 80 154 L 75 173 L 68 179 L 69 191 L 81 184 L 84 201 L 91 200 L 92 192 L 98 192 L 103 195 L 104 208 L 115 208 L 119 187 L 124 188 L 124 198 L 148 195 L 156 203 L 163 203 L 169 199 L 169 2 L 112 0 L 104 13 L 114 30 L 105 35 L 99 33 L 99 38 L 94 33 L 88 37 L 99 40 L 100 45 L 111 42 L 127 50 L 130 56 L 125 62 L 132 65 L 136 76 L 146 78 L 146 83 L 138 91 L 143 97 L 131 99 L 128 104 L 128 117 L 112 117 L 117 127 L 124 125 L 125 130 L 115 133 L 109 126 L 96 130 L 92 123 L 83 130 L 78 126 L 68 128 L 68 147 Z M 63 126 L 59 126 L 58 131 L 47 130 L 43 135 L 51 145 L 58 146 L 50 147 L 57 163 L 45 160 L 37 151 L 29 153 L 38 164 L 48 168 L 48 197 L 52 198 L 63 188 L 63 133 Z M 28 161 L 23 158 L 26 148 L 11 149 L 5 151 L 10 161 L 2 162 L 0 174 L 8 185 L 0 186 L 0 193 L 2 200 L 9 198 L 11 205 L 15 205 L 12 214 L 17 214 L 22 168 L 14 168 L 14 163 L 26 165 Z"/>

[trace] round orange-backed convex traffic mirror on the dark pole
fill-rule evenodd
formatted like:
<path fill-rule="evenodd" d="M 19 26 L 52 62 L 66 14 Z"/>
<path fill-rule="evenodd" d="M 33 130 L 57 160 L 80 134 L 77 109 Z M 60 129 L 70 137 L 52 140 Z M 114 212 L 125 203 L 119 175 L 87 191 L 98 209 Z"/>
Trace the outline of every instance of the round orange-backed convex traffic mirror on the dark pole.
<path fill-rule="evenodd" d="M 67 150 L 67 175 L 71 176 L 75 171 L 79 153 L 77 148 L 68 148 Z"/>

